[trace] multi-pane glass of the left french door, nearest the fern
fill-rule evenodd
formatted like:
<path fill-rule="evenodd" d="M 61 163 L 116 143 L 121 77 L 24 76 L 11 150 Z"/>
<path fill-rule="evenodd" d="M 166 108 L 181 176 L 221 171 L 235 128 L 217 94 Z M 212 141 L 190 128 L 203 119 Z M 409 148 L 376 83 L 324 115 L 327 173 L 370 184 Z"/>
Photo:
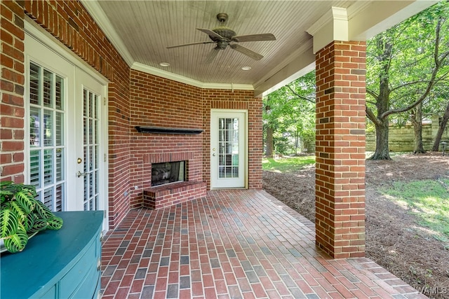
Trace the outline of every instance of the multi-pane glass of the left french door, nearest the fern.
<path fill-rule="evenodd" d="M 65 79 L 29 63 L 28 181 L 52 211 L 65 202 Z"/>

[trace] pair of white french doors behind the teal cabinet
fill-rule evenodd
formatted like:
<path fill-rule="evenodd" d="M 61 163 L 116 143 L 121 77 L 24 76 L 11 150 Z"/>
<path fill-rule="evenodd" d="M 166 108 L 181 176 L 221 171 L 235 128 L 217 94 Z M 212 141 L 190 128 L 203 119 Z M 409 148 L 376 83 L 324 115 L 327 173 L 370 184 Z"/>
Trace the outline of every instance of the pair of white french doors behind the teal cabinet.
<path fill-rule="evenodd" d="M 106 83 L 54 48 L 25 34 L 26 180 L 53 211 L 107 214 Z"/>

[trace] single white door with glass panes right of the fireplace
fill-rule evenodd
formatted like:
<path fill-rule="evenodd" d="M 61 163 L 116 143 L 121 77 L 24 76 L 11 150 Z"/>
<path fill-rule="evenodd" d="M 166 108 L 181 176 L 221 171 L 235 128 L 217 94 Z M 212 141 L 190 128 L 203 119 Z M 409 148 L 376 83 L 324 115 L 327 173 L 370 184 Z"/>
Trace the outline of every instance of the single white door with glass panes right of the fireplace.
<path fill-rule="evenodd" d="M 246 187 L 246 111 L 210 113 L 210 188 Z"/>

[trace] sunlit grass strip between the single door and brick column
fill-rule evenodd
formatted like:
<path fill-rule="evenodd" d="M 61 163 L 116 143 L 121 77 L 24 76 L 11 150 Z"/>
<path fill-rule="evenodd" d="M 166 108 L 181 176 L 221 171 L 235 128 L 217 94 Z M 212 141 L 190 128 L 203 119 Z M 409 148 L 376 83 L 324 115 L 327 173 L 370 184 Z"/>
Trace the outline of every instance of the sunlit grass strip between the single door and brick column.
<path fill-rule="evenodd" d="M 314 155 L 304 155 L 299 157 L 286 158 L 264 158 L 262 160 L 262 169 L 270 172 L 295 172 L 305 166 L 315 164 Z"/>

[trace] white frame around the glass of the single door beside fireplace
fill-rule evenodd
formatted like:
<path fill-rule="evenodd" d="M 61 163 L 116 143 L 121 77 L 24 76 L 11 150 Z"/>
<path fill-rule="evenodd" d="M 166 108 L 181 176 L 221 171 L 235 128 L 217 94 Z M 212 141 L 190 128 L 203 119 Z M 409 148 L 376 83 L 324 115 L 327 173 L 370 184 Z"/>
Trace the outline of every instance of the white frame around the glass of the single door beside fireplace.
<path fill-rule="evenodd" d="M 239 151 L 239 155 L 243 153 L 243 186 L 217 186 L 217 178 L 215 177 L 217 172 L 217 151 L 213 151 L 216 145 L 213 145 L 214 137 L 217 136 L 217 125 L 214 125 L 213 122 L 215 120 L 215 116 L 220 113 L 229 114 L 229 117 L 232 117 L 234 113 L 243 114 L 243 144 L 240 145 L 241 150 Z M 213 131 L 214 130 L 214 131 Z M 215 156 L 214 156 L 215 153 Z M 210 144 L 209 144 L 209 154 L 210 154 L 210 189 L 222 189 L 222 188 L 248 188 L 248 110 L 242 109 L 210 109 Z M 215 169 L 214 169 L 215 165 Z"/>

